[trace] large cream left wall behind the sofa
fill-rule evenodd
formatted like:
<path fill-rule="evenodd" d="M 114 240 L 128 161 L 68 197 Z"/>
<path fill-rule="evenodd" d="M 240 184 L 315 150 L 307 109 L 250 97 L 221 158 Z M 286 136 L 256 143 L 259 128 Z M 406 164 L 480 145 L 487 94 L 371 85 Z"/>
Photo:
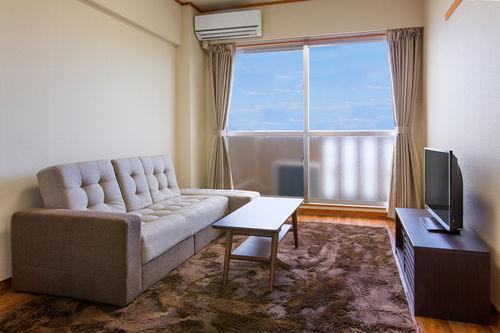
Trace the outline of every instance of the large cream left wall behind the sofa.
<path fill-rule="evenodd" d="M 12 213 L 41 206 L 38 170 L 174 154 L 175 60 L 165 36 L 85 1 L 0 1 L 0 280 Z"/>

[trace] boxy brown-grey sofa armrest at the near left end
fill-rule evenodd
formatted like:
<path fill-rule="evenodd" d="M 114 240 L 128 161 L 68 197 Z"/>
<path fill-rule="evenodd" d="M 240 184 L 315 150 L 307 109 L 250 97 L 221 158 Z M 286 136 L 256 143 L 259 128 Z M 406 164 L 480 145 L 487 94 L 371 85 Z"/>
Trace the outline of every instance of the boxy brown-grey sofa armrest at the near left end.
<path fill-rule="evenodd" d="M 124 306 L 141 293 L 136 215 L 30 209 L 12 216 L 14 290 Z"/>

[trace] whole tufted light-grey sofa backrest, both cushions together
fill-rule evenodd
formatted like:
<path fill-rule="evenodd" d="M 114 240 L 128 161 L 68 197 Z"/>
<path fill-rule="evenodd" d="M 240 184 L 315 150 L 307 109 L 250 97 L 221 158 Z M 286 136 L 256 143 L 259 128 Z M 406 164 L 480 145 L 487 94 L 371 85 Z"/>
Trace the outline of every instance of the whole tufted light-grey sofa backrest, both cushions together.
<path fill-rule="evenodd" d="M 37 177 L 46 208 L 130 212 L 180 195 L 166 155 L 56 165 Z"/>

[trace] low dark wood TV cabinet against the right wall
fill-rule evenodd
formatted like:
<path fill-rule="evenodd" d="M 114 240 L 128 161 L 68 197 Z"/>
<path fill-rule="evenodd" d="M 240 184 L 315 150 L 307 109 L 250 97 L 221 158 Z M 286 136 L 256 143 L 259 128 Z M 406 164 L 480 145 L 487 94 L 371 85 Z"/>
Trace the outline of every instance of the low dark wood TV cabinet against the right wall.
<path fill-rule="evenodd" d="M 429 232 L 424 209 L 396 208 L 395 253 L 414 315 L 488 324 L 490 252 L 470 233 Z"/>

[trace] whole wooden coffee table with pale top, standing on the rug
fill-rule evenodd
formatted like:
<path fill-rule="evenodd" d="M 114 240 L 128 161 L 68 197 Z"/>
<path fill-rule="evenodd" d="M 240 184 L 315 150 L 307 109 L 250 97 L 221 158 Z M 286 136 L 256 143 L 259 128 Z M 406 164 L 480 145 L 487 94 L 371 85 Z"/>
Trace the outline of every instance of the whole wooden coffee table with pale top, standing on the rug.
<path fill-rule="evenodd" d="M 212 225 L 216 229 L 226 230 L 222 285 L 226 284 L 231 259 L 260 261 L 271 263 L 269 291 L 274 290 L 278 243 L 293 227 L 295 247 L 299 246 L 297 208 L 303 201 L 292 198 L 259 197 Z M 290 216 L 292 216 L 292 224 L 285 224 Z M 231 252 L 233 234 L 251 237 Z"/>

